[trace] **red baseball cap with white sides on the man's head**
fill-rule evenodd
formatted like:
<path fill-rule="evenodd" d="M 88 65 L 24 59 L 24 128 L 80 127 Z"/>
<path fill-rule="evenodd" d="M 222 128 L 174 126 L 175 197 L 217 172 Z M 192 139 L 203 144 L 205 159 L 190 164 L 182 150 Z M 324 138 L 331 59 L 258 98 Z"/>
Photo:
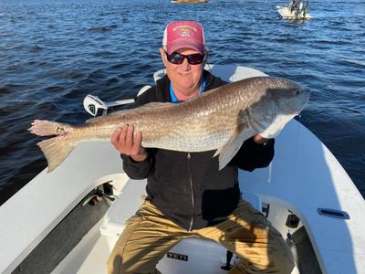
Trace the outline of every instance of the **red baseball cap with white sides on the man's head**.
<path fill-rule="evenodd" d="M 193 48 L 204 54 L 203 26 L 195 21 L 174 21 L 165 28 L 162 45 L 168 54 L 183 47 Z"/>

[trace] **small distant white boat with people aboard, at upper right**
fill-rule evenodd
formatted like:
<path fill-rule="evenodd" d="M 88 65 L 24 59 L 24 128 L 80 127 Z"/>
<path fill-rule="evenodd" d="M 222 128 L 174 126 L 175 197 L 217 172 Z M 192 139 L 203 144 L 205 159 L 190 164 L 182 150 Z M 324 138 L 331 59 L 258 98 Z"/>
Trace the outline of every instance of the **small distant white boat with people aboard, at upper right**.
<path fill-rule="evenodd" d="M 276 5 L 277 12 L 279 15 L 286 19 L 291 20 L 307 20 L 312 18 L 308 14 L 308 3 L 309 1 L 293 0 L 288 5 Z"/>

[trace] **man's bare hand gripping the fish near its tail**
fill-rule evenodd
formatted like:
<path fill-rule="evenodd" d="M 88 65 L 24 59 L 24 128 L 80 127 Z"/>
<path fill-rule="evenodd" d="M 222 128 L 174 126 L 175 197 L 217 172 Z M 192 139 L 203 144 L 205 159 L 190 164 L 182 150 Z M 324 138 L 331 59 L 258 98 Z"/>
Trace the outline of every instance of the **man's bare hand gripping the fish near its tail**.
<path fill-rule="evenodd" d="M 134 127 L 126 124 L 111 135 L 110 142 L 121 154 L 130 156 L 135 162 L 142 162 L 147 158 L 147 151 L 141 147 L 142 133 L 137 132 L 133 140 L 133 132 Z"/>

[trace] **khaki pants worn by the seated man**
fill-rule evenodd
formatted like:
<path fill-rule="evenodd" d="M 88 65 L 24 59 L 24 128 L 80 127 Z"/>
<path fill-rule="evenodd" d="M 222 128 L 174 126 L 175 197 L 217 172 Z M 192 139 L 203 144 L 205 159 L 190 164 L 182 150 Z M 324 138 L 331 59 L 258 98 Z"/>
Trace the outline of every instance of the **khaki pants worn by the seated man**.
<path fill-rule="evenodd" d="M 210 238 L 241 258 L 229 273 L 290 273 L 294 260 L 276 228 L 241 201 L 228 219 L 214 227 L 186 231 L 148 200 L 130 217 L 111 252 L 109 273 L 160 273 L 155 266 L 186 237 Z M 197 273 L 199 269 L 197 269 Z"/>

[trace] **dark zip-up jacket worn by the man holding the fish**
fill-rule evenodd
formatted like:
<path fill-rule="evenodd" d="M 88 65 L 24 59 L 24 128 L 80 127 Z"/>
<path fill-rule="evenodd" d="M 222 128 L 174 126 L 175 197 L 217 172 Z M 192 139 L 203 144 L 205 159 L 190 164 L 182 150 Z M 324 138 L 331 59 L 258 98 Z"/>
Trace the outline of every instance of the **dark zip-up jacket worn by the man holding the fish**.
<path fill-rule="evenodd" d="M 204 71 L 205 90 L 225 84 Z M 134 104 L 151 101 L 171 102 L 170 80 L 167 76 L 156 86 L 139 96 Z M 121 155 L 126 174 L 133 179 L 147 178 L 147 194 L 151 203 L 164 216 L 188 230 L 213 226 L 235 209 L 240 198 L 238 168 L 253 171 L 267 166 L 274 156 L 274 140 L 266 145 L 246 140 L 234 159 L 221 171 L 214 151 L 180 153 L 162 149 L 148 149 L 148 158 L 135 163 Z M 255 182 L 253 182 L 255 183 Z"/>

